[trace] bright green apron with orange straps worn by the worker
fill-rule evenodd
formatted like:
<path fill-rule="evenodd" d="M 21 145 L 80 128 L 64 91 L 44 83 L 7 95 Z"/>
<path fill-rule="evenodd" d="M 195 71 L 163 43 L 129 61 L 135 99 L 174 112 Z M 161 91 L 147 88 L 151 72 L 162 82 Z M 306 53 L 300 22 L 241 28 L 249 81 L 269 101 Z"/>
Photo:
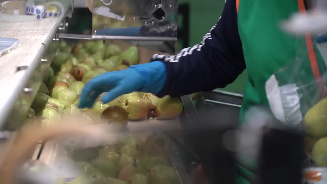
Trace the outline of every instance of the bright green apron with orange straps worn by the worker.
<path fill-rule="evenodd" d="M 236 2 L 239 35 L 248 70 L 241 119 L 252 105 L 269 106 L 265 90 L 266 81 L 299 54 L 303 56 L 301 58 L 303 63 L 302 73 L 298 77 L 305 83 L 315 81 L 314 73 L 316 75 L 325 73 L 326 67 L 316 46 L 313 49 L 312 42 L 311 47 L 308 46 L 311 39 L 290 36 L 278 26 L 281 20 L 288 19 L 292 13 L 299 10 L 305 12 L 303 0 L 236 0 Z M 317 71 L 314 72 L 315 62 L 319 66 L 318 74 Z M 287 77 L 286 75 L 285 78 Z M 255 177 L 246 169 L 240 166 L 237 168 L 239 172 Z M 248 184 L 249 181 L 237 176 L 237 183 Z"/>

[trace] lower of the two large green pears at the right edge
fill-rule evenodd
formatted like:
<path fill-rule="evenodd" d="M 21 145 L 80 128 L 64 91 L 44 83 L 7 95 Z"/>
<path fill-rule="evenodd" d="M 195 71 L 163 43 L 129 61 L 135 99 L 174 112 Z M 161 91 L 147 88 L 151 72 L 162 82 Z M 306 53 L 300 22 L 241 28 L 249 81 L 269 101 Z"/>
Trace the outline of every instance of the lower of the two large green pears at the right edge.
<path fill-rule="evenodd" d="M 320 138 L 312 149 L 312 158 L 318 167 L 327 167 L 327 138 Z"/>

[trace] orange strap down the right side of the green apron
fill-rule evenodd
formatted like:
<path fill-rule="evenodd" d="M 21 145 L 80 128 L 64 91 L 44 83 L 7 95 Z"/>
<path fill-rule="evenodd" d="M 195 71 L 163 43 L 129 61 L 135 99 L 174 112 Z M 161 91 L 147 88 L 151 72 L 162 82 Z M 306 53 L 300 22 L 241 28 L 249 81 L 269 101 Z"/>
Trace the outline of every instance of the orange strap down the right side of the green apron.
<path fill-rule="evenodd" d="M 237 0 L 237 1 L 239 1 L 239 0 Z M 298 4 L 299 4 L 300 13 L 305 14 L 306 10 L 305 10 L 305 5 L 304 5 L 304 0 L 298 0 Z M 316 82 L 318 83 L 318 85 L 320 87 L 320 90 L 322 91 L 322 94 L 326 97 L 325 85 L 323 83 L 323 80 L 322 80 L 322 77 L 321 77 L 321 74 L 319 71 L 315 48 L 314 48 L 310 34 L 305 34 L 305 42 L 306 42 L 306 46 L 307 46 L 307 50 L 308 50 L 308 55 L 309 55 L 309 60 L 310 60 L 313 75 L 316 79 Z"/>

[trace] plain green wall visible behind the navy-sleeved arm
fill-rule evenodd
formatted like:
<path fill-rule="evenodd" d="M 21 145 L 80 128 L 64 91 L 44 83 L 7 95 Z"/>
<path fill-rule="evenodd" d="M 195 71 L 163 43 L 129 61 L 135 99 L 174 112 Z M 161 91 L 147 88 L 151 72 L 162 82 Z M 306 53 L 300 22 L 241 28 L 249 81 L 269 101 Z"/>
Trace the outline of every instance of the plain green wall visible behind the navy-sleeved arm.
<path fill-rule="evenodd" d="M 200 43 L 202 37 L 217 23 L 224 8 L 224 2 L 225 0 L 179 0 L 180 4 L 190 4 L 190 46 Z M 247 72 L 245 71 L 234 83 L 229 84 L 223 90 L 243 94 L 246 77 Z"/>

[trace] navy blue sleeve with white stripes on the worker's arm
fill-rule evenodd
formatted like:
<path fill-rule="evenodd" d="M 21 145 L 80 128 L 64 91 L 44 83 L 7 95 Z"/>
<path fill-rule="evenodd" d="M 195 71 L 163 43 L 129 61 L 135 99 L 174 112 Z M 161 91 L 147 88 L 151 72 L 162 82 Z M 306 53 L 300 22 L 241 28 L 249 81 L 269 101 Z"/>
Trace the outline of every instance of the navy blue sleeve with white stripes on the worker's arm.
<path fill-rule="evenodd" d="M 180 97 L 232 83 L 246 68 L 236 0 L 226 1 L 217 24 L 200 44 L 184 48 L 176 56 L 155 54 L 151 61 L 162 61 L 166 66 L 167 80 L 158 97 Z"/>

